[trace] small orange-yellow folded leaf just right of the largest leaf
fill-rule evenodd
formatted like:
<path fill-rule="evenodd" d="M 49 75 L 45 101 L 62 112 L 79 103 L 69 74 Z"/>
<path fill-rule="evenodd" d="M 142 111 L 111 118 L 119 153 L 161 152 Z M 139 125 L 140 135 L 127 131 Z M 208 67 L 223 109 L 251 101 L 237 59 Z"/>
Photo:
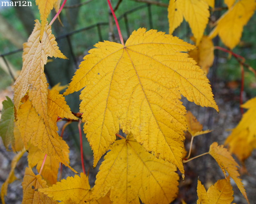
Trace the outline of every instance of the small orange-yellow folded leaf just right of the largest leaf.
<path fill-rule="evenodd" d="M 187 112 L 186 119 L 188 123 L 188 132 L 192 135 L 192 137 L 211 132 L 211 130 L 202 131 L 203 125 L 198 122 L 196 117 L 190 111 Z"/>

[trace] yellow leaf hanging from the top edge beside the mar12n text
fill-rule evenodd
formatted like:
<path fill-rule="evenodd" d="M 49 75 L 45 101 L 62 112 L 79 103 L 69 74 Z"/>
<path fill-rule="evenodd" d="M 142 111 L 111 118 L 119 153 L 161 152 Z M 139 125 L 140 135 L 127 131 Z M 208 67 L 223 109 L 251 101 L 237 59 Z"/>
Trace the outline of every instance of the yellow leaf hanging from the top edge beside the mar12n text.
<path fill-rule="evenodd" d="M 44 35 L 44 29 L 45 29 L 45 24 L 47 21 L 47 17 L 49 16 L 51 10 L 53 9 L 54 4 L 58 0 L 36 0 L 36 5 L 38 5 L 39 13 L 40 13 L 40 20 L 41 20 L 41 25 L 40 26 L 40 41 L 44 41 L 43 35 Z M 39 40 L 39 39 L 38 39 Z"/>

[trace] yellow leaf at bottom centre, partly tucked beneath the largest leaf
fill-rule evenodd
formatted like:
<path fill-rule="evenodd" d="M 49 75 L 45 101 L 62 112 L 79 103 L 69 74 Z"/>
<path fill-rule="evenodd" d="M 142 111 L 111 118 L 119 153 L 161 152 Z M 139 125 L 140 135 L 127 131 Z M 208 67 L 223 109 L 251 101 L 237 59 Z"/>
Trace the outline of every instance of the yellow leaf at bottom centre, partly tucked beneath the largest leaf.
<path fill-rule="evenodd" d="M 104 159 L 89 199 L 103 197 L 109 190 L 113 204 L 139 204 L 140 200 L 169 204 L 176 198 L 176 167 L 148 153 L 131 135 L 117 140 Z"/>

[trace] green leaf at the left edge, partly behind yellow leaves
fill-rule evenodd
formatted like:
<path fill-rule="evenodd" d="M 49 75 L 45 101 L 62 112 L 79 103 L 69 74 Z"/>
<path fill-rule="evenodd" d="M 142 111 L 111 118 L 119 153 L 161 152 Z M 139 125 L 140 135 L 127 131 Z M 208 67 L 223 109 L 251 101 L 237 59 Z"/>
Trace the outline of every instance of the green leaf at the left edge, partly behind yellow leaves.
<path fill-rule="evenodd" d="M 0 120 L 0 135 L 7 149 L 12 143 L 14 145 L 14 106 L 12 100 L 6 96 L 7 100 L 3 101 L 2 116 Z"/>

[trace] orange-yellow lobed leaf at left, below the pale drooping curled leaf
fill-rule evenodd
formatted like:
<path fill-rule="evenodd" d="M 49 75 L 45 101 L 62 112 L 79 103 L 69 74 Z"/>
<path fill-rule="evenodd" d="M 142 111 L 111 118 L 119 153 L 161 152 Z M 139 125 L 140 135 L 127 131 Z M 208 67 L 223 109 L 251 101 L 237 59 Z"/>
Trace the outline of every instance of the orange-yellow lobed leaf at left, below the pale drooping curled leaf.
<path fill-rule="evenodd" d="M 68 157 L 65 152 L 66 143 L 58 135 L 56 120 L 61 118 L 77 118 L 71 113 L 62 94 L 57 90 L 48 91 L 47 95 L 47 120 L 36 113 L 29 100 L 24 101 L 17 114 L 17 126 L 25 148 L 28 149 L 29 141 L 43 151 L 44 154 L 56 158 L 69 168 Z M 72 169 L 72 168 L 71 168 Z M 72 169 L 73 170 L 73 169 Z"/>

